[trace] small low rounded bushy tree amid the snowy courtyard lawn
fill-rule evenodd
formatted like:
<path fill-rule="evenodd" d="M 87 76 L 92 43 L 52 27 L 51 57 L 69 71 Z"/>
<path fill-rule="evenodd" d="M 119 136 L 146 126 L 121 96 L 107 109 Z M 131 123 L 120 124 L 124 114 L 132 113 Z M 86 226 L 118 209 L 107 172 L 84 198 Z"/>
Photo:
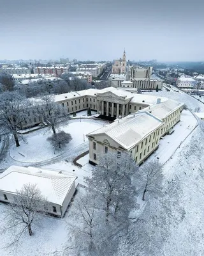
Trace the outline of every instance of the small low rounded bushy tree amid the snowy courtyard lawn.
<path fill-rule="evenodd" d="M 54 147 L 63 147 L 66 144 L 69 143 L 69 141 L 72 140 L 71 135 L 69 133 L 66 133 L 64 131 L 57 132 L 55 134 L 52 134 L 52 136 L 47 138 L 48 141 L 54 146 Z"/>

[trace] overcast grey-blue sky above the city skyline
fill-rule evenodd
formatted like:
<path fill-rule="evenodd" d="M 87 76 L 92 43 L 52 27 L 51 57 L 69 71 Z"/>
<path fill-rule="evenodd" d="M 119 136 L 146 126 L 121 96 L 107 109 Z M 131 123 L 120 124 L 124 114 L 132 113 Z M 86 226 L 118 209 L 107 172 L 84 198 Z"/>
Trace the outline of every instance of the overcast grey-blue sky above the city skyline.
<path fill-rule="evenodd" d="M 204 60 L 201 0 L 0 2 L 0 60 Z"/>

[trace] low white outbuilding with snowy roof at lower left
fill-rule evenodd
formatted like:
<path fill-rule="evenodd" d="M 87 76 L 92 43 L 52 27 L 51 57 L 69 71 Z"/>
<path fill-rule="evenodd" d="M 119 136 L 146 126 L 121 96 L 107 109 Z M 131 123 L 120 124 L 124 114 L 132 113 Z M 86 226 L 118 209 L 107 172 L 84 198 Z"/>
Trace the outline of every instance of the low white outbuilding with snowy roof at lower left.
<path fill-rule="evenodd" d="M 11 203 L 24 184 L 35 184 L 46 198 L 47 213 L 64 216 L 76 188 L 77 176 L 35 167 L 10 166 L 0 175 L 0 201 Z"/>

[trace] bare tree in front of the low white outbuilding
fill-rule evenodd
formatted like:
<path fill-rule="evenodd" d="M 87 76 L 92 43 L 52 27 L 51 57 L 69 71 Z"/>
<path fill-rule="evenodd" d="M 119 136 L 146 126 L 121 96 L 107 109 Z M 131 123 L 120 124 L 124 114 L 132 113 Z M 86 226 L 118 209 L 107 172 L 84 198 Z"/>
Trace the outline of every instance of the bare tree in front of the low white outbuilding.
<path fill-rule="evenodd" d="M 13 202 L 6 207 L 4 230 L 14 234 L 14 240 L 10 245 L 20 241 L 20 238 L 28 232 L 33 235 L 33 226 L 39 225 L 43 217 L 45 198 L 41 195 L 36 184 L 24 184 L 22 189 L 16 191 Z M 42 209 L 43 208 L 43 209 Z"/>

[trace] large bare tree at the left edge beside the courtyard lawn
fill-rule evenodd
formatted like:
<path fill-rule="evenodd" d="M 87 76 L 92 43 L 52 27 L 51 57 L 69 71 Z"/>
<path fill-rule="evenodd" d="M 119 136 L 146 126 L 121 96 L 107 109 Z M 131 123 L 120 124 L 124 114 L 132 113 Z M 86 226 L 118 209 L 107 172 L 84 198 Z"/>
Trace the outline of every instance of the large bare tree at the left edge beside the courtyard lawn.
<path fill-rule="evenodd" d="M 30 102 L 18 92 L 4 92 L 0 95 L 1 127 L 13 134 L 17 147 L 20 146 L 17 132 L 22 129 L 29 106 Z"/>

